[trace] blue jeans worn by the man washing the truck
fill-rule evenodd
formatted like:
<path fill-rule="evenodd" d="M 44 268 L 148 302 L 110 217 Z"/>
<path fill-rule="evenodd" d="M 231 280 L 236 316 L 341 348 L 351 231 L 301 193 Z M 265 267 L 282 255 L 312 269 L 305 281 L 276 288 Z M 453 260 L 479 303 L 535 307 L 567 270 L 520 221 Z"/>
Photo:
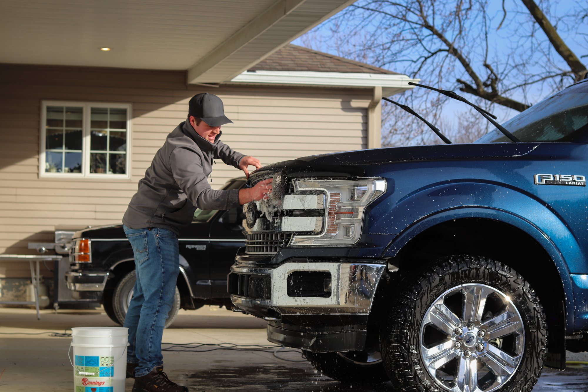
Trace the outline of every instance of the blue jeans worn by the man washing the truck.
<path fill-rule="evenodd" d="M 126 361 L 139 364 L 135 377 L 141 377 L 163 364 L 161 337 L 176 291 L 179 245 L 178 237 L 169 230 L 126 225 L 123 229 L 133 247 L 137 273 L 124 323 L 129 328 Z"/>

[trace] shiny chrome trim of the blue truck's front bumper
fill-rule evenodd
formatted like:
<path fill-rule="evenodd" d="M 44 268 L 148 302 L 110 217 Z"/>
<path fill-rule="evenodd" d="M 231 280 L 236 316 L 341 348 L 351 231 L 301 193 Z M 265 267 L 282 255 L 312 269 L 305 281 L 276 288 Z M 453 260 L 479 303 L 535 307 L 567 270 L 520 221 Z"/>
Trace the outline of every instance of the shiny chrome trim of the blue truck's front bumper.
<path fill-rule="evenodd" d="M 231 295 L 233 304 L 251 313 L 272 308 L 280 314 L 368 314 L 372 308 L 377 283 L 385 264 L 354 263 L 300 263 L 292 261 L 276 268 L 249 268 L 235 266 L 236 274 L 269 275 L 270 300 Z M 329 271 L 332 278 L 332 294 L 329 298 L 289 297 L 288 275 L 294 271 Z"/>

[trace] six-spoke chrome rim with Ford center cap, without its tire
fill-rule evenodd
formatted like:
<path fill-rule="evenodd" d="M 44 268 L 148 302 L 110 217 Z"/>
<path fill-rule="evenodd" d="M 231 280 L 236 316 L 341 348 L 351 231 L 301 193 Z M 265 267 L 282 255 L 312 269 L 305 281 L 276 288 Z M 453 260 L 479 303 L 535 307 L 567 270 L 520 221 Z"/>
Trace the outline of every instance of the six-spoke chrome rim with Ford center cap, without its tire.
<path fill-rule="evenodd" d="M 513 301 L 496 288 L 462 284 L 427 309 L 419 346 L 437 386 L 451 392 L 495 391 L 522 361 L 523 320 Z"/>

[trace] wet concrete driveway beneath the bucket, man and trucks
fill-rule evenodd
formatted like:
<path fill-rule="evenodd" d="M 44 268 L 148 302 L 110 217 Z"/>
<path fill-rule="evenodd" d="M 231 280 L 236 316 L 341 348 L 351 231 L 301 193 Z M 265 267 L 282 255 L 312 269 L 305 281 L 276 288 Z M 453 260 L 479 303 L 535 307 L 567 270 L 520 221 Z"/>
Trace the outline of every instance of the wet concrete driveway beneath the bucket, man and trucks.
<path fill-rule="evenodd" d="M 74 390 L 67 358 L 71 338 L 46 332 L 63 333 L 66 328 L 84 326 L 116 324 L 102 310 L 59 310 L 56 314 L 45 310 L 38 321 L 34 310 L 0 308 L 0 391 Z M 265 321 L 225 308 L 181 311 L 173 326 L 164 331 L 163 342 L 163 348 L 186 350 L 164 351 L 164 370 L 171 380 L 191 391 L 392 391 L 389 383 L 349 385 L 330 380 L 303 360 L 299 350 L 273 347 L 266 340 Z M 229 349 L 223 343 L 240 347 Z M 572 359 L 586 361 L 588 353 L 573 354 Z M 132 381 L 127 380 L 125 391 L 131 389 Z M 562 372 L 545 368 L 533 389 L 542 391 L 588 392 L 588 366 L 570 366 Z"/>

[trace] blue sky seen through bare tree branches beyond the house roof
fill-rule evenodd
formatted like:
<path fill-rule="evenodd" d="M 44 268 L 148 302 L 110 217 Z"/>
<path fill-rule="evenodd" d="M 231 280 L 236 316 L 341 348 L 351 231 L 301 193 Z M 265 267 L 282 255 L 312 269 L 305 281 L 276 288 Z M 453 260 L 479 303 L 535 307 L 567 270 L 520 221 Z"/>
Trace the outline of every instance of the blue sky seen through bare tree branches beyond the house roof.
<path fill-rule="evenodd" d="M 588 57 L 582 51 L 588 51 L 584 3 L 559 2 L 555 8 L 550 2 L 557 0 L 541 0 L 541 13 L 533 14 L 523 5 L 533 1 L 358 0 L 311 31 L 315 44 L 305 45 L 320 42 L 342 57 L 402 72 L 423 84 L 459 89 L 491 111 L 495 104 L 523 111 L 581 76 L 562 59 L 553 37 L 543 34 L 536 15 L 557 31 L 562 47 L 580 55 L 575 65 L 580 72 L 585 67 L 579 59 Z M 406 91 L 395 100 L 414 108 L 452 141 L 470 142 L 489 131 L 479 115 L 449 107 L 446 98 L 428 90 Z M 512 112 L 496 114 L 508 117 Z M 383 146 L 437 142 L 418 120 L 383 104 Z"/>

